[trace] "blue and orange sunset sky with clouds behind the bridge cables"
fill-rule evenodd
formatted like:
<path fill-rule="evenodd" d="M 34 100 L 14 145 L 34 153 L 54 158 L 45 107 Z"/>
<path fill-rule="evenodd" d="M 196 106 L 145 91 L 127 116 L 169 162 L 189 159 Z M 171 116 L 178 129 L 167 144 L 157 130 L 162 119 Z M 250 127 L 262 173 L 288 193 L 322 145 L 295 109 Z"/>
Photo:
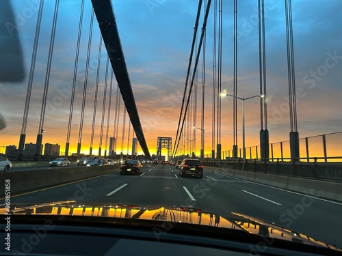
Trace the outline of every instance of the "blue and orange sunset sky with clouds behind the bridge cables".
<path fill-rule="evenodd" d="M 0 146 L 18 146 L 39 5 L 38 0 L 12 0 L 11 2 L 14 14 L 16 15 L 19 38 L 23 48 L 26 76 L 20 83 L 3 83 L 0 81 L 0 113 L 5 118 L 7 124 L 7 127 L 0 131 Z M 222 90 L 229 94 L 233 92 L 233 1 L 224 0 L 223 2 Z M 211 152 L 213 3 L 214 0 L 212 1 L 207 24 L 205 154 Z M 259 94 L 257 3 L 257 0 L 238 1 L 237 94 L 241 98 Z M 54 0 L 44 1 L 34 85 L 27 123 L 26 143 L 36 143 L 54 5 Z M 155 154 L 157 137 L 172 137 L 173 143 L 176 137 L 198 1 L 112 0 L 112 5 L 116 15 L 137 110 L 140 114 L 150 154 Z M 60 1 L 49 82 L 47 113 L 44 122 L 43 144 L 58 143 L 61 145 L 62 152 L 65 150 L 66 143 L 70 108 L 69 88 L 70 83 L 73 81 L 80 6 L 81 0 Z M 91 8 L 90 0 L 86 0 L 81 33 L 70 153 L 76 152 L 78 142 Z M 290 132 L 289 100 L 287 99 L 285 3 L 284 1 L 269 0 L 265 1 L 265 8 L 268 130 L 269 142 L 275 143 L 289 140 Z M 342 130 L 342 1 L 293 0 L 292 15 L 295 85 L 298 90 L 298 132 L 300 138 L 340 132 Z M 199 31 L 202 27 L 202 20 L 203 15 L 200 18 Z M 86 154 L 89 152 L 90 145 L 99 39 L 98 23 L 96 18 L 94 18 L 82 141 L 82 152 Z M 3 46 L 0 44 L 0 54 L 3 54 L 3 48 L 1 47 Z M 97 152 L 99 145 L 98 138 L 101 128 L 106 54 L 105 47 L 103 47 L 94 152 Z M 3 65 L 3 63 L 0 63 L 0 72 L 4 72 Z M 199 67 L 197 127 L 200 127 L 202 60 L 200 60 Z M 114 79 L 109 137 L 112 137 L 114 134 L 116 89 L 117 86 Z M 233 147 L 232 102 L 233 98 L 231 97 L 222 98 L 222 151 L 231 150 Z M 245 104 L 246 146 L 259 145 L 259 100 L 254 98 L 246 101 Z M 107 126 L 107 106 L 108 102 L 105 112 L 105 127 Z M 241 147 L 241 102 L 238 102 L 238 106 L 238 145 Z M 120 126 L 123 123 L 123 109 L 124 106 L 121 104 Z M 122 151 L 124 154 L 127 152 L 127 120 L 128 115 L 123 149 L 121 149 L 122 128 L 118 131 L 117 151 Z M 198 139 L 196 142 L 196 154 L 198 155 L 200 151 L 200 130 L 197 130 L 196 134 L 196 139 Z M 104 150 L 105 131 L 103 137 Z M 132 138 L 132 135 L 130 138 Z M 341 147 L 342 141 L 337 141 L 337 143 Z M 131 147 L 131 141 L 129 144 Z M 142 152 L 140 151 L 139 153 L 141 154 Z M 163 151 L 163 153 L 165 152 Z"/>

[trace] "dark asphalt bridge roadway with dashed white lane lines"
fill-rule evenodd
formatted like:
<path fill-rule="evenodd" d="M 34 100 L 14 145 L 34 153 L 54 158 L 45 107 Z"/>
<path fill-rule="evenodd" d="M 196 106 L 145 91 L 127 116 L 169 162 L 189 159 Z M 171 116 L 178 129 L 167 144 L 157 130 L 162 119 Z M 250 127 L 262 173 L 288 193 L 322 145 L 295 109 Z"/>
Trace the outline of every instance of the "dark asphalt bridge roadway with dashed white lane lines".
<path fill-rule="evenodd" d="M 205 171 L 203 179 L 180 177 L 179 169 L 168 165 L 145 164 L 142 175 L 116 172 L 31 191 L 13 196 L 11 203 L 64 200 L 139 206 L 184 205 L 223 217 L 237 212 L 342 247 L 342 203 L 319 199 L 314 190 L 293 193 L 209 171 Z M 1 199 L 0 203 L 3 202 Z"/>

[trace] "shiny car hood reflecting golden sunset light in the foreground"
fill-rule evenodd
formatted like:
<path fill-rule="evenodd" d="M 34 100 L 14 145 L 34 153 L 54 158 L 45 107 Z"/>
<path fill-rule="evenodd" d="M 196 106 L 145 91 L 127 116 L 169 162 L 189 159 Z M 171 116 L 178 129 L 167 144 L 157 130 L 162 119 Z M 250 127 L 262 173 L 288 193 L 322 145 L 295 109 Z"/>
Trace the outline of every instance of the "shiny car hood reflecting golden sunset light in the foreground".
<path fill-rule="evenodd" d="M 0 214 L 8 214 L 5 205 L 0 205 Z M 199 225 L 202 227 L 212 227 L 213 229 L 234 229 L 244 231 L 249 234 L 261 236 L 268 239 L 287 240 L 289 242 L 299 242 L 324 248 L 332 248 L 337 251 L 341 249 L 315 240 L 303 233 L 298 233 L 285 227 L 280 227 L 274 223 L 268 223 L 259 218 L 231 212 L 230 217 L 222 217 L 213 212 L 203 212 L 198 208 L 168 207 L 168 206 L 148 206 L 148 205 L 126 205 L 126 204 L 103 204 L 103 203 L 77 203 L 77 201 L 58 201 L 51 203 L 11 204 L 10 214 L 12 215 L 47 215 L 47 216 L 90 216 L 96 218 L 96 222 L 101 217 L 124 218 L 132 220 L 146 221 L 166 221 L 168 223 L 185 223 Z M 106 220 L 107 220 L 106 218 Z M 94 220 L 95 221 L 95 220 Z"/>

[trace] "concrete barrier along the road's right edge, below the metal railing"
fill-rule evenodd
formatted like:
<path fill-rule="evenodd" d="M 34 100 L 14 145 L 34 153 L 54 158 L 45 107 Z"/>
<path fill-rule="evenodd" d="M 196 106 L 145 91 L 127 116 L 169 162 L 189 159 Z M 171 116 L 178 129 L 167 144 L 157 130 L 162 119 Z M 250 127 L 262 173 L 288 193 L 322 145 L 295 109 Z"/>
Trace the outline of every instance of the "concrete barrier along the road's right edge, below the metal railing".
<path fill-rule="evenodd" d="M 274 175 L 268 173 L 256 173 L 254 171 L 237 171 L 217 167 L 205 167 L 209 171 L 237 177 L 260 184 L 283 188 L 298 193 L 313 195 L 325 199 L 332 199 L 342 202 L 342 184 L 326 182 L 321 180 L 308 180 L 298 177 Z"/>

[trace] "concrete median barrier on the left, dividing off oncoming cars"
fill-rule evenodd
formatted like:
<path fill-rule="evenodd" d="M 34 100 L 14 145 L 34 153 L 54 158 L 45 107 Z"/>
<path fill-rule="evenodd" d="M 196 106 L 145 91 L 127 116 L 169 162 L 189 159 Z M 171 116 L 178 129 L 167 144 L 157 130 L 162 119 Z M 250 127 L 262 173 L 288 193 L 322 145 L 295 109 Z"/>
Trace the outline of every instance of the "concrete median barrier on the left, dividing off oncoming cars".
<path fill-rule="evenodd" d="M 66 184 L 118 171 L 120 171 L 120 165 L 84 168 L 56 167 L 54 169 L 38 169 L 36 171 L 7 171 L 0 173 L 0 183 L 5 184 L 8 183 L 6 180 L 10 180 L 11 195 L 18 195 L 29 190 Z M 5 189 L 0 191 L 0 197 L 3 197 L 3 195 L 5 195 Z"/>

